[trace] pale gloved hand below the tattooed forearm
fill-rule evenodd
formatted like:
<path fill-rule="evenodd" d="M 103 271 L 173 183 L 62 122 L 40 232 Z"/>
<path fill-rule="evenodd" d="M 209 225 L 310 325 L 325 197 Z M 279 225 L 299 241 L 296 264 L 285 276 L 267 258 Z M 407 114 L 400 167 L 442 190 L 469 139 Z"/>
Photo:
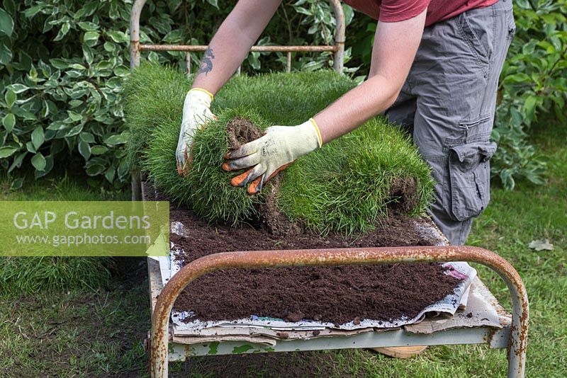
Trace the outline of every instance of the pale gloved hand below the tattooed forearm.
<path fill-rule="evenodd" d="M 213 94 L 202 88 L 193 88 L 185 96 L 179 142 L 177 142 L 175 151 L 177 173 L 180 176 L 189 173 L 188 160 L 191 162 L 191 145 L 196 130 L 203 127 L 209 120 L 216 119 L 215 115 L 210 112 L 212 101 Z"/>

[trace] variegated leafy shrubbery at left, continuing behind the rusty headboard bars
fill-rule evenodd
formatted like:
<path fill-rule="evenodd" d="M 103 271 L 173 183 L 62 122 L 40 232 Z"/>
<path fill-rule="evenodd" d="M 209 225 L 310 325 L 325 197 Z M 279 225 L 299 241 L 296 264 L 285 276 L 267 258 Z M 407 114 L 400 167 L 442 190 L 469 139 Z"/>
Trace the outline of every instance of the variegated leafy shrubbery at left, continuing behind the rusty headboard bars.
<path fill-rule="evenodd" d="M 121 79 L 129 74 L 128 21 L 132 0 L 3 0 L 0 6 L 0 171 L 22 183 L 23 168 L 35 178 L 64 166 L 86 171 L 114 186 L 127 180 Z M 325 1 L 323 1 L 325 3 Z M 234 5 L 228 0 L 149 1 L 142 12 L 141 42 L 204 44 Z M 300 1 L 281 7 L 261 45 L 325 43 L 334 18 L 328 5 Z M 345 8 L 348 8 L 345 6 Z M 291 11 L 290 11 L 291 10 Z M 325 12 L 323 12 L 325 10 Z M 352 13 L 352 11 L 351 11 Z M 174 26 L 175 25 L 175 26 Z M 297 28 L 297 25 L 301 27 Z M 292 28 L 293 26 L 293 28 Z M 266 55 L 266 53 L 262 53 Z M 329 57 L 308 54 L 293 68 L 317 69 Z M 200 59 L 191 55 L 194 67 Z M 186 69 L 181 52 L 144 54 L 153 62 Z M 282 69 L 253 52 L 244 71 Z M 194 69 L 193 67 L 193 69 Z M 150 105 L 150 103 L 146 103 Z"/>

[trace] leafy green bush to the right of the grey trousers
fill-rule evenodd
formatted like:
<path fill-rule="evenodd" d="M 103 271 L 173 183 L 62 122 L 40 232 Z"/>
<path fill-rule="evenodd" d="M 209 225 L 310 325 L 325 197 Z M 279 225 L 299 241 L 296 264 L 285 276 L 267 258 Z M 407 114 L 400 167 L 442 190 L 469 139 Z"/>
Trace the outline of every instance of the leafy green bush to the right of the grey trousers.
<path fill-rule="evenodd" d="M 518 178 L 544 183 L 545 163 L 528 140 L 532 122 L 567 125 L 567 1 L 514 4 L 517 32 L 500 76 L 493 131 L 499 144 L 493 173 L 506 188 Z"/>

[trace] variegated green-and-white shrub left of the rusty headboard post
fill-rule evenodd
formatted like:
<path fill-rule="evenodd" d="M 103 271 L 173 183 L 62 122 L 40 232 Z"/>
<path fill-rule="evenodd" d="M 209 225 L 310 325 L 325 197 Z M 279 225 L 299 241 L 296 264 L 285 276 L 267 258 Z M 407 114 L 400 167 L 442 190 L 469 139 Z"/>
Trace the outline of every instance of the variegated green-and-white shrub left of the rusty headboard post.
<path fill-rule="evenodd" d="M 125 6 L 5 0 L 0 17 L 2 168 L 13 174 L 30 164 L 40 178 L 65 162 L 110 183 L 128 176 L 119 102 L 129 71 Z"/>

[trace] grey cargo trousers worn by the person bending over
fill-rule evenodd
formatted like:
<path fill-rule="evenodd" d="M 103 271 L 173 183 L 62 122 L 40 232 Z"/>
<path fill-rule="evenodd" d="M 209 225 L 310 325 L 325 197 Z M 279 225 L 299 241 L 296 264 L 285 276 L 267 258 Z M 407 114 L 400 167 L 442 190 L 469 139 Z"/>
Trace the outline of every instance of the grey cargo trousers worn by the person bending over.
<path fill-rule="evenodd" d="M 412 134 L 436 182 L 430 216 L 453 245 L 490 200 L 498 76 L 515 33 L 512 0 L 425 28 L 410 74 L 387 110 Z"/>

